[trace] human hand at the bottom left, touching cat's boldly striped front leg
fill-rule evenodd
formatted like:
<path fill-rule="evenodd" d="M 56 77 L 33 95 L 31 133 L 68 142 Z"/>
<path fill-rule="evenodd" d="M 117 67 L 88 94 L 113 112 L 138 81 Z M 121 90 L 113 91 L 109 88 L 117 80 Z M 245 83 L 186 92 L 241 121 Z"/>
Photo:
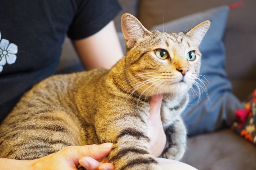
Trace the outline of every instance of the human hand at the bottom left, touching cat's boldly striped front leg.
<path fill-rule="evenodd" d="M 80 164 L 87 170 L 114 170 L 113 163 L 97 161 L 98 159 L 106 157 L 112 147 L 112 143 L 68 146 L 56 153 L 32 160 L 33 164 L 31 167 L 32 169 L 40 170 L 76 170 Z"/>

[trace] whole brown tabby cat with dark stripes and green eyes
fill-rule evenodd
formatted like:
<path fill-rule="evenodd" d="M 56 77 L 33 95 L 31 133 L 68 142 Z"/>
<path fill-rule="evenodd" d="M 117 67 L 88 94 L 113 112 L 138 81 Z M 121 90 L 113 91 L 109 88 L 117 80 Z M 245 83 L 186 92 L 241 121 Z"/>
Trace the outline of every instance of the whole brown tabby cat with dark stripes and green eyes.
<path fill-rule="evenodd" d="M 187 33 L 148 31 L 125 13 L 126 55 L 110 70 L 54 75 L 20 99 L 0 126 L 0 157 L 36 159 L 66 146 L 112 142 L 116 169 L 159 169 L 149 152 L 149 98 L 164 94 L 161 119 L 167 134 L 164 158 L 186 149 L 180 117 L 201 67 L 199 44 L 210 21 Z M 97 57 L 97 56 L 95 56 Z"/>

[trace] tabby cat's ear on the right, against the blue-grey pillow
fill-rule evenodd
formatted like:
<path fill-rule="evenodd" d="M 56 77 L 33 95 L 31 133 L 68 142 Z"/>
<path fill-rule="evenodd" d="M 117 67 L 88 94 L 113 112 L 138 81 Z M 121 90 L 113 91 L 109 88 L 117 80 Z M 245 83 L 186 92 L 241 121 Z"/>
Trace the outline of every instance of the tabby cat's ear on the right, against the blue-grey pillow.
<path fill-rule="evenodd" d="M 192 28 L 190 31 L 186 33 L 187 36 L 191 37 L 191 40 L 199 46 L 204 35 L 208 31 L 209 27 L 211 25 L 211 21 L 206 20 L 202 23 L 196 25 L 194 28 Z"/>

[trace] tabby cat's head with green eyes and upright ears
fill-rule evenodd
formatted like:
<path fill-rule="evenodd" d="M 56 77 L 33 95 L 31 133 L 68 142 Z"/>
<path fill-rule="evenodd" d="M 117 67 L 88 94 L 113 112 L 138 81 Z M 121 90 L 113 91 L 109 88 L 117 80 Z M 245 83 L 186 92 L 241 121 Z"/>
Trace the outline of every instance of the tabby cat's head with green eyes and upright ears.
<path fill-rule="evenodd" d="M 195 83 L 200 67 L 199 44 L 210 27 L 204 21 L 187 33 L 148 31 L 125 13 L 121 26 L 126 41 L 126 74 L 140 94 L 182 94 Z"/>

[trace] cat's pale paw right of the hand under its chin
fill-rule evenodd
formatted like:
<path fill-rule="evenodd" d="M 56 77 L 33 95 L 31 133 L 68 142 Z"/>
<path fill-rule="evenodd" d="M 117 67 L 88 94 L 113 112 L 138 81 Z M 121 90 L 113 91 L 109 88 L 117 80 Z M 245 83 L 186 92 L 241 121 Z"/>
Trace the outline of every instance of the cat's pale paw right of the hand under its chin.
<path fill-rule="evenodd" d="M 185 145 L 172 145 L 167 149 L 163 157 L 179 161 L 185 154 L 186 146 Z"/>

